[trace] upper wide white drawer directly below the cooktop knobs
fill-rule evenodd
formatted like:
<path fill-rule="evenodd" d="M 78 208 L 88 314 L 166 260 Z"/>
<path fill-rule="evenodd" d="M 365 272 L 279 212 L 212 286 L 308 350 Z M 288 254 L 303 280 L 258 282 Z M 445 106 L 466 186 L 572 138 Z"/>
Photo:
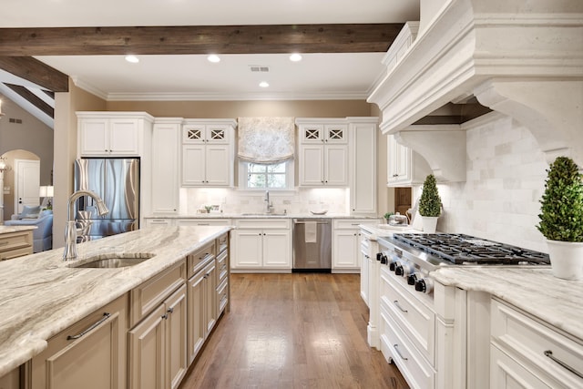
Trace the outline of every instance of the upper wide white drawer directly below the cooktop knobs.
<path fill-rule="evenodd" d="M 403 277 L 395 276 L 386 266 L 382 268 L 381 306 L 427 361 L 435 364 L 435 312 L 411 295 L 414 292 L 423 297 L 423 293 L 414 291 L 409 285 L 408 289 L 405 288 L 401 285 L 402 280 Z"/>

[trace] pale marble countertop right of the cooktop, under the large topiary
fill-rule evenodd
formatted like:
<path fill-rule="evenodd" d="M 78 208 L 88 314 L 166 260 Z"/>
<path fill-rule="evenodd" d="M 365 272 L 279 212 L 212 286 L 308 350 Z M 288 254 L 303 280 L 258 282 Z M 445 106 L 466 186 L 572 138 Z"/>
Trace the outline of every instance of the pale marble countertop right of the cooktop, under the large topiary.
<path fill-rule="evenodd" d="M 566 281 L 550 268 L 444 267 L 431 273 L 437 282 L 488 292 L 583 342 L 583 281 Z"/>

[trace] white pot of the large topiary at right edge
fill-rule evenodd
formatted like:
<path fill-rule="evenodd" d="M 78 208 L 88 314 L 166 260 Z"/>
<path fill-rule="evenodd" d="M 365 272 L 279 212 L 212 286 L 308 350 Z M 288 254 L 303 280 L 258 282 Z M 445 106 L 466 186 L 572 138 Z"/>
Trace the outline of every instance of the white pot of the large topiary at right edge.
<path fill-rule="evenodd" d="M 583 280 L 583 242 L 549 241 L 553 275 L 563 280 Z"/>

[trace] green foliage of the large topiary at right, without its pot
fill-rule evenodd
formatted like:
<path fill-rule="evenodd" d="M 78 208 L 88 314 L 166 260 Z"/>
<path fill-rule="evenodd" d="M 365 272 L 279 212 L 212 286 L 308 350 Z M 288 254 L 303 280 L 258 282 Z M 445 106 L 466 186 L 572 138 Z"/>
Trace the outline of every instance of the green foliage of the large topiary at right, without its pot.
<path fill-rule="evenodd" d="M 583 175 L 568 157 L 547 169 L 537 229 L 549 241 L 583 242 Z"/>

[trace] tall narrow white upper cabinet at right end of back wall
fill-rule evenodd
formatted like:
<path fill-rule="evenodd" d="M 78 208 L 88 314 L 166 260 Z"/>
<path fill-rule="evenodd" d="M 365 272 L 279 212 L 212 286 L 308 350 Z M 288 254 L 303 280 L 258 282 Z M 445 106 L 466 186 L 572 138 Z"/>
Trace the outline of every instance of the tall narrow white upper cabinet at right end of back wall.
<path fill-rule="evenodd" d="M 350 210 L 353 215 L 376 215 L 376 133 L 378 118 L 350 121 Z"/>

